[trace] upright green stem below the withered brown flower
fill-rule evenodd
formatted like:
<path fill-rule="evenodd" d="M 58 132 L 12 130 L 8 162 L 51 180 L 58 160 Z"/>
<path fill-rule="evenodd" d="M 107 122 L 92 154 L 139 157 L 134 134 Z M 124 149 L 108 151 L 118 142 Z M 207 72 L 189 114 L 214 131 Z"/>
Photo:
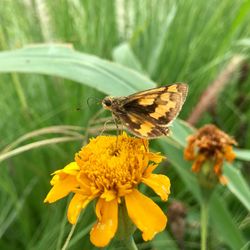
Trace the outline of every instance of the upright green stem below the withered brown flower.
<path fill-rule="evenodd" d="M 207 249 L 208 228 L 208 200 L 203 199 L 201 204 L 201 250 Z"/>

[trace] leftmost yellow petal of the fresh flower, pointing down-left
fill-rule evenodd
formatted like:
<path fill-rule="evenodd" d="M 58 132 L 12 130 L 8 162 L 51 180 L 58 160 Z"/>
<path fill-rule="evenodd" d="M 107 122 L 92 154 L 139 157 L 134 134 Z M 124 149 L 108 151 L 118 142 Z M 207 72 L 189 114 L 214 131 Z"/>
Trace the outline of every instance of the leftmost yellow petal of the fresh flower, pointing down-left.
<path fill-rule="evenodd" d="M 55 176 L 56 177 L 56 176 Z M 68 175 L 62 180 L 58 180 L 55 185 L 50 189 L 44 202 L 55 202 L 66 195 L 68 195 L 74 188 L 78 186 L 75 176 Z"/>

